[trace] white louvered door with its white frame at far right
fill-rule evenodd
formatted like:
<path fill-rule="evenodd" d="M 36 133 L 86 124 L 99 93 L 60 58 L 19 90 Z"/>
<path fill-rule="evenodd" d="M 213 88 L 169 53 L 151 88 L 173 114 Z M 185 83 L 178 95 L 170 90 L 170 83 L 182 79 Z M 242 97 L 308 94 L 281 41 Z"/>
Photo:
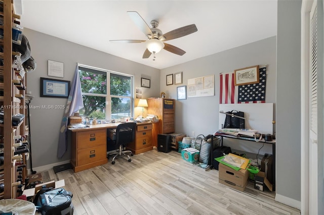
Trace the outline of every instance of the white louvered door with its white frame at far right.
<path fill-rule="evenodd" d="M 301 12 L 301 214 L 318 214 L 317 1 Z"/>

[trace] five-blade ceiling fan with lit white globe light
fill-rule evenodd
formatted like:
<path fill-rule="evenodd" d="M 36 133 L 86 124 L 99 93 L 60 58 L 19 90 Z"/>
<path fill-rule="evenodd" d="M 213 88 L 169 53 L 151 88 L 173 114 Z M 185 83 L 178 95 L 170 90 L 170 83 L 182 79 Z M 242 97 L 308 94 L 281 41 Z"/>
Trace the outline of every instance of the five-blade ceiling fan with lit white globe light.
<path fill-rule="evenodd" d="M 195 24 L 187 25 L 181 28 L 177 28 L 175 30 L 169 31 L 168 33 L 163 34 L 160 29 L 158 29 L 158 22 L 156 20 L 152 20 L 150 22 L 151 28 L 148 27 L 144 19 L 136 12 L 136 11 L 128 11 L 128 15 L 131 17 L 133 22 L 137 25 L 139 29 L 146 35 L 147 40 L 110 40 L 111 42 L 119 42 L 119 43 L 143 43 L 146 42 L 146 50 L 143 54 L 143 59 L 149 58 L 151 54 L 153 55 L 159 52 L 162 48 L 176 55 L 183 56 L 186 52 L 181 48 L 178 48 L 174 45 L 165 43 L 164 41 L 176 39 L 179 37 L 186 36 L 188 34 L 194 33 L 197 31 L 197 27 Z M 155 58 L 155 56 L 154 56 Z M 155 60 L 155 59 L 153 59 Z"/>

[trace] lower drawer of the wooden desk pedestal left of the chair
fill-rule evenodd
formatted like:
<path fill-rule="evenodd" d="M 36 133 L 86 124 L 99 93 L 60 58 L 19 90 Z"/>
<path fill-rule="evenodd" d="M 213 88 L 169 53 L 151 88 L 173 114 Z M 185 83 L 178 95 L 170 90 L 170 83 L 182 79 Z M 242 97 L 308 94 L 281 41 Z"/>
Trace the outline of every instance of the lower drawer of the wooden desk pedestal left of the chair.
<path fill-rule="evenodd" d="M 105 159 L 107 156 L 106 145 L 94 146 L 77 150 L 76 166 L 82 166 Z"/>

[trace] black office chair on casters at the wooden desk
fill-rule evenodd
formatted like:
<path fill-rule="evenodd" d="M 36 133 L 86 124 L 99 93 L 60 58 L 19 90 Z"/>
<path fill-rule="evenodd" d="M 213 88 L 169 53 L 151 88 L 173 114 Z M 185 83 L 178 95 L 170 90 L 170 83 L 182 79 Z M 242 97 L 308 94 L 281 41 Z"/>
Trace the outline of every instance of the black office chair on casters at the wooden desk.
<path fill-rule="evenodd" d="M 115 137 L 116 137 L 115 145 L 116 146 L 118 145 L 119 150 L 117 152 L 108 155 L 108 156 L 114 155 L 111 161 L 112 165 L 115 164 L 115 158 L 121 155 L 128 156 L 128 162 L 132 161 L 130 155 L 126 153 L 130 152 L 131 156 L 133 156 L 133 152 L 130 150 L 123 151 L 123 149 L 124 147 L 126 147 L 126 144 L 134 141 L 135 131 L 136 131 L 136 123 L 122 123 L 117 126 L 115 131 Z"/>

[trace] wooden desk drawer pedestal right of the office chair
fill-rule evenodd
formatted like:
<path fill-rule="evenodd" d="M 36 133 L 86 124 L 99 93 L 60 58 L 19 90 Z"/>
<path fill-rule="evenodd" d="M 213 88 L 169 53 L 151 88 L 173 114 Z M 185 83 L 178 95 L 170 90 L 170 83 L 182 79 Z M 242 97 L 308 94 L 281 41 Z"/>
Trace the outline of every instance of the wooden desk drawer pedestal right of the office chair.
<path fill-rule="evenodd" d="M 126 148 L 134 154 L 152 150 L 152 124 L 145 123 L 136 125 L 135 141 L 129 143 Z"/>

